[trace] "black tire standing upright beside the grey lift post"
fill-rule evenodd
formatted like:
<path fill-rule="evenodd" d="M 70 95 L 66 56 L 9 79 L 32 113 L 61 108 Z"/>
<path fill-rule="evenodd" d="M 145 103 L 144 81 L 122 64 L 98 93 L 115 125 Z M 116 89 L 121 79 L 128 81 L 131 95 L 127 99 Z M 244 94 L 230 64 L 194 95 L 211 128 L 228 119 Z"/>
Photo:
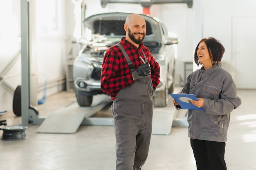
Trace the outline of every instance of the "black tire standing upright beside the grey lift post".
<path fill-rule="evenodd" d="M 18 85 L 14 91 L 12 110 L 16 116 L 21 116 L 21 85 Z"/>

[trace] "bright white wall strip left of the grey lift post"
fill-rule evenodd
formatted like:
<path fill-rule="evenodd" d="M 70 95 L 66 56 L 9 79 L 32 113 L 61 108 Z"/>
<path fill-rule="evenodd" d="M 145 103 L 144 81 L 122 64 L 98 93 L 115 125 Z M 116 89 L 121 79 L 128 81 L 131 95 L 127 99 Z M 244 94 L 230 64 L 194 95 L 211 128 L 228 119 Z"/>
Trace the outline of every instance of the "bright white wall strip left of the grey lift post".
<path fill-rule="evenodd" d="M 12 89 L 15 89 L 21 83 L 20 58 L 16 63 L 13 63 L 13 67 L 9 71 L 7 69 L 7 66 L 19 51 L 20 1 L 0 0 L 0 112 L 12 110 Z"/>

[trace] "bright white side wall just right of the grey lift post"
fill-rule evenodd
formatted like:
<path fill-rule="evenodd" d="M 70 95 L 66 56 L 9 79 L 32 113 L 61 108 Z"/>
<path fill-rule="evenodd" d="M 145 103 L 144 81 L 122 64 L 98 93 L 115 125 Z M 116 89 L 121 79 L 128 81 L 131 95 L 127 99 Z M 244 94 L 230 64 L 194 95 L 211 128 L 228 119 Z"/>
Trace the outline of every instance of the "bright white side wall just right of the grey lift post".
<path fill-rule="evenodd" d="M 38 74 L 38 83 L 47 80 L 48 85 L 52 86 L 51 82 L 65 79 L 66 74 L 66 41 L 70 38 L 66 35 L 66 6 L 61 0 L 32 0 L 30 5 L 31 17 L 34 16 L 30 19 L 31 73 Z M 48 95 L 64 89 L 53 86 L 47 88 Z M 42 92 L 39 97 L 42 97 Z"/>

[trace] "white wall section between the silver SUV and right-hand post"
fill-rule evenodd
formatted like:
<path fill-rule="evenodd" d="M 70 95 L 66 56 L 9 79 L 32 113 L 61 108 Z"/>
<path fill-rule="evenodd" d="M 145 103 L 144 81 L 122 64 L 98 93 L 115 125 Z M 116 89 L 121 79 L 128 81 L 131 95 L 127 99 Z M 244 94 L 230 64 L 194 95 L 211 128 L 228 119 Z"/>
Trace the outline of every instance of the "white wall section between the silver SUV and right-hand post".
<path fill-rule="evenodd" d="M 188 8 L 185 3 L 153 5 L 151 15 L 162 20 L 168 30 L 176 33 L 179 38 L 175 61 L 175 85 L 180 86 L 184 81 L 182 60 L 193 59 L 193 7 Z"/>

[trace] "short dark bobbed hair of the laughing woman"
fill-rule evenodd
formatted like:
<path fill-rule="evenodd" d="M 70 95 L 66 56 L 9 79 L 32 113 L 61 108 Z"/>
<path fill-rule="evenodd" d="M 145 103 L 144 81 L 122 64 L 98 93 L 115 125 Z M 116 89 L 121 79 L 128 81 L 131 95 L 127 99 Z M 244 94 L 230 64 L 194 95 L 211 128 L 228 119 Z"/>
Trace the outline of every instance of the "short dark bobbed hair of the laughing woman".
<path fill-rule="evenodd" d="M 216 40 L 213 37 L 203 38 L 202 40 L 200 40 L 198 45 L 195 47 L 195 54 L 194 54 L 195 64 L 197 64 L 198 66 L 202 64 L 202 63 L 198 62 L 198 56 L 196 54 L 196 51 L 198 50 L 198 46 L 201 42 L 205 42 L 207 49 L 209 51 L 211 60 L 213 61 L 213 65 L 220 64 L 221 58 L 225 52 L 225 48 L 222 45 L 222 43 L 220 42 L 220 40 Z"/>

